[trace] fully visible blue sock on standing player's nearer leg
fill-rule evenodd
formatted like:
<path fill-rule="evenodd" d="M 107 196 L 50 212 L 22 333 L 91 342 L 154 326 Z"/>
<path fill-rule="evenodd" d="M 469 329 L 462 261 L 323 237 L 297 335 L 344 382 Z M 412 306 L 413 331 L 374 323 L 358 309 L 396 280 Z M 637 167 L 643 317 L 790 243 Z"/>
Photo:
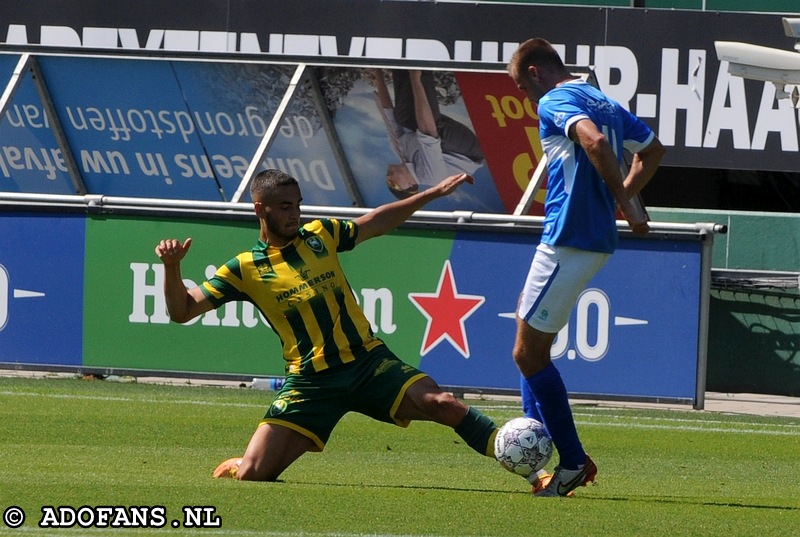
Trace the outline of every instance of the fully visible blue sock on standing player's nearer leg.
<path fill-rule="evenodd" d="M 525 382 L 536 400 L 536 406 L 542 417 L 541 421 L 547 427 L 553 444 L 558 449 L 559 464 L 569 470 L 578 469 L 586 462 L 586 452 L 583 451 L 583 446 L 578 438 L 578 430 L 572 419 L 567 388 L 564 386 L 561 373 L 551 363 L 538 373 L 526 378 Z"/>

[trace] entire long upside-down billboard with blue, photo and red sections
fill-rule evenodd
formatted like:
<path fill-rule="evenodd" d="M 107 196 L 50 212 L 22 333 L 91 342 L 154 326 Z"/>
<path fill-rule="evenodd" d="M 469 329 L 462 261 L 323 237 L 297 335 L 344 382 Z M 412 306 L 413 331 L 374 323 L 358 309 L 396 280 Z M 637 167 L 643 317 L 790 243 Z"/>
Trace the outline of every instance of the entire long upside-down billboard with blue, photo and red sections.
<path fill-rule="evenodd" d="M 19 60 L 0 58 L 9 73 Z M 277 168 L 305 204 L 375 207 L 464 172 L 473 187 L 429 209 L 503 214 L 538 161 L 534 107 L 498 73 L 35 61 L 41 76 L 21 80 L 0 122 L 0 191 L 248 201 L 247 174 Z M 50 108 L 41 88 L 56 89 Z"/>

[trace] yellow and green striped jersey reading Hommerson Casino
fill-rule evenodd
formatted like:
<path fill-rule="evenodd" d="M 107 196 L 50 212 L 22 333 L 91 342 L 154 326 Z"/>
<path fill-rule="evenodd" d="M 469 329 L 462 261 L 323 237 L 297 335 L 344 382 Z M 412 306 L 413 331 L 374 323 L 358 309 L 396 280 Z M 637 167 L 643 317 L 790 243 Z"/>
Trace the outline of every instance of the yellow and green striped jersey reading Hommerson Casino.
<path fill-rule="evenodd" d="M 339 264 L 358 226 L 320 219 L 302 226 L 283 248 L 259 241 L 201 286 L 214 307 L 252 302 L 283 345 L 289 374 L 309 374 L 357 360 L 383 343 L 372 333 Z"/>

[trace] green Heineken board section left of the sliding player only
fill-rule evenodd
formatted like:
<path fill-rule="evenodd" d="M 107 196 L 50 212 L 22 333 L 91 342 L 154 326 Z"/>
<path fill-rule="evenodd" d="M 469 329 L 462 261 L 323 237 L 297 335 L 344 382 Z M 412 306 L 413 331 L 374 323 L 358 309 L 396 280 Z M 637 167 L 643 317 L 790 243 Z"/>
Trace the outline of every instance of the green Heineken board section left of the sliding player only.
<path fill-rule="evenodd" d="M 215 264 L 255 244 L 257 234 L 255 220 L 89 219 L 84 365 L 282 375 L 278 338 L 249 304 L 230 304 L 186 325 L 171 323 L 154 252 L 161 239 L 192 237 L 183 277 L 199 284 Z"/>

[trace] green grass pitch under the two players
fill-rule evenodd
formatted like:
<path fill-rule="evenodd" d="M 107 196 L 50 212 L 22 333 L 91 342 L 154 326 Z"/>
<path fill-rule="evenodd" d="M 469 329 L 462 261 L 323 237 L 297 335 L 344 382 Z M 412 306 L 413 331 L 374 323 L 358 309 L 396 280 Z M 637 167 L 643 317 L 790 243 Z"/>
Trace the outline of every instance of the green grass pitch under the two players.
<path fill-rule="evenodd" d="M 0 536 L 750 537 L 800 528 L 797 419 L 575 406 L 600 472 L 574 498 L 531 497 L 522 478 L 445 427 L 356 414 L 279 482 L 212 479 L 217 463 L 241 454 L 272 395 L 0 378 Z M 498 424 L 520 414 L 514 401 L 470 403 Z M 160 506 L 164 520 L 39 527 L 47 508 L 63 506 Z M 186 527 L 184 506 L 207 508 L 192 513 L 215 526 Z M 22 526 L 9 527 L 21 512 Z"/>

